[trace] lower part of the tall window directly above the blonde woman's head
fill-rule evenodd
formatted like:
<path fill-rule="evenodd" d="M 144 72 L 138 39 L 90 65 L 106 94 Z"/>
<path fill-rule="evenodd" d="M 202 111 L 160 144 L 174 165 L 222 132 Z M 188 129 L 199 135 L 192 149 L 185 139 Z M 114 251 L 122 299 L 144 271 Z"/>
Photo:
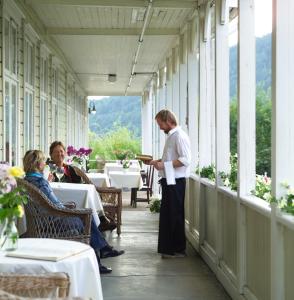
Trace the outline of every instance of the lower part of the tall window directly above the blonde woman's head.
<path fill-rule="evenodd" d="M 34 105 L 33 93 L 25 92 L 24 101 L 24 149 L 34 148 Z"/>

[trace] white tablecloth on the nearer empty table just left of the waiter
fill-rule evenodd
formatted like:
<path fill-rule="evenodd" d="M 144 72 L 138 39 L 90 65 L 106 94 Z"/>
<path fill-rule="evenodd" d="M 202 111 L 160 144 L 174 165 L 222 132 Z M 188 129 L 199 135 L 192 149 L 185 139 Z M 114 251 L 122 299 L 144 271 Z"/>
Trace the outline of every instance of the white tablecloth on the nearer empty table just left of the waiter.
<path fill-rule="evenodd" d="M 112 171 L 109 172 L 111 186 L 116 188 L 142 188 L 143 181 L 140 172 Z"/>

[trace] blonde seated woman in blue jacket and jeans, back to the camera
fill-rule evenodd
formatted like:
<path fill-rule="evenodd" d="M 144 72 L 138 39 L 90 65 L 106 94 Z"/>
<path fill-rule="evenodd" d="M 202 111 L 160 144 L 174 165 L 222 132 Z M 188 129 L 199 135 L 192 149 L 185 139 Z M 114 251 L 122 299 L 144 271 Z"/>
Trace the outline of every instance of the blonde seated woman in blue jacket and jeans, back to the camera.
<path fill-rule="evenodd" d="M 42 151 L 39 150 L 29 150 L 26 152 L 23 158 L 23 167 L 26 173 L 25 180 L 30 182 L 31 184 L 35 185 L 39 188 L 47 198 L 56 206 L 64 208 L 62 202 L 56 197 L 54 194 L 48 180 L 43 177 L 43 171 L 46 166 L 45 163 L 45 155 Z M 74 217 L 73 217 L 74 218 Z M 75 223 L 76 228 L 80 228 L 83 230 L 82 221 L 79 218 L 74 218 L 75 220 L 71 220 L 71 224 Z M 66 222 L 66 220 L 64 220 Z M 66 225 L 66 224 L 65 224 Z M 124 253 L 123 250 L 115 250 L 113 249 L 104 239 L 101 232 L 99 231 L 95 221 L 92 219 L 91 221 L 91 236 L 90 236 L 90 246 L 94 249 L 97 260 L 99 263 L 99 270 L 100 273 L 110 273 L 112 270 L 111 268 L 105 267 L 100 262 L 101 258 L 106 257 L 114 257 Z M 100 252 L 100 256 L 99 256 Z"/>

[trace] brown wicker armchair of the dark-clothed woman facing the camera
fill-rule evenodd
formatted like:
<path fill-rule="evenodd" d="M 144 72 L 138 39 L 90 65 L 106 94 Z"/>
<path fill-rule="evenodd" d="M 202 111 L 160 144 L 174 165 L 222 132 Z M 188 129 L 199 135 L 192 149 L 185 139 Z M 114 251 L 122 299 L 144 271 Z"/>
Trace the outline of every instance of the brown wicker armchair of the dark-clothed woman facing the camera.
<path fill-rule="evenodd" d="M 76 174 L 80 176 L 84 183 L 94 184 L 90 178 L 79 168 L 73 167 Z M 105 215 L 115 222 L 116 232 L 121 234 L 121 211 L 122 211 L 122 190 L 114 187 L 100 188 L 96 187 L 99 193 Z"/>

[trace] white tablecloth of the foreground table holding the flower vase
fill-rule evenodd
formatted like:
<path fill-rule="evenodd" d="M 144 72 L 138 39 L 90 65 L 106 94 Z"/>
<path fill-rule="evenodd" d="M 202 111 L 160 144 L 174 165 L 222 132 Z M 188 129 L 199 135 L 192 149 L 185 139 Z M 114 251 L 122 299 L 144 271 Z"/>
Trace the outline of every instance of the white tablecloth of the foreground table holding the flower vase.
<path fill-rule="evenodd" d="M 43 260 L 39 253 L 54 253 L 61 248 L 77 253 L 58 261 Z M 56 239 L 24 238 L 18 241 L 18 252 L 31 253 L 32 258 L 7 257 L 0 251 L 0 270 L 7 273 L 40 274 L 65 272 L 70 277 L 70 297 L 103 300 L 98 262 L 94 250 L 86 244 Z M 43 255 L 45 256 L 45 255 Z"/>

